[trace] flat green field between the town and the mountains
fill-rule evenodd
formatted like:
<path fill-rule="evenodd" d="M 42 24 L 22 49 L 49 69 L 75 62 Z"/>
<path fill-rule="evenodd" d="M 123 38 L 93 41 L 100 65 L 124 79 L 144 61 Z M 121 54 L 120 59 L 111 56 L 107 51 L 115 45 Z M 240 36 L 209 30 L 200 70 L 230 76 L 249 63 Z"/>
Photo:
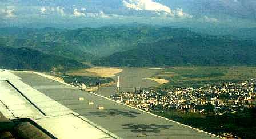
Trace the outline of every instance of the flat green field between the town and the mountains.
<path fill-rule="evenodd" d="M 167 67 L 154 75 L 167 79 L 161 87 L 198 87 L 256 78 L 256 67 Z"/>

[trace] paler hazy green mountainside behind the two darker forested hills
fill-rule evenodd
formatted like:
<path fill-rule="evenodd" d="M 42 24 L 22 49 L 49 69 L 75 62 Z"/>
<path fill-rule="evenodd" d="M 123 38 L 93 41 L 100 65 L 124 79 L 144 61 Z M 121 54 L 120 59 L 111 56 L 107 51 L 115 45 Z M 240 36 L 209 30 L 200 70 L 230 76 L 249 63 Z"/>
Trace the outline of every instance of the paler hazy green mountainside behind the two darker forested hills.
<path fill-rule="evenodd" d="M 191 31 L 183 28 L 143 25 L 76 30 L 0 28 L 0 44 L 15 48 L 28 47 L 79 61 L 91 61 L 115 52 L 132 50 L 140 43 L 154 43 L 188 32 Z"/>

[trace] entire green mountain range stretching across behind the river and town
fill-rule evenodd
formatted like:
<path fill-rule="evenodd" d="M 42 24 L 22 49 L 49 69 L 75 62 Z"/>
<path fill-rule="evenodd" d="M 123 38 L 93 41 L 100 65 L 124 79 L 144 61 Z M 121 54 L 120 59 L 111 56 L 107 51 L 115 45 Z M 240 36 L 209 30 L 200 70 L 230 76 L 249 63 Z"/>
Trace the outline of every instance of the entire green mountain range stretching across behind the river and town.
<path fill-rule="evenodd" d="M 186 28 L 144 24 L 75 30 L 6 27 L 0 28 L 0 46 L 15 52 L 27 48 L 36 53 L 34 58 L 49 55 L 99 66 L 256 65 L 254 31 L 235 32 L 208 35 Z"/>

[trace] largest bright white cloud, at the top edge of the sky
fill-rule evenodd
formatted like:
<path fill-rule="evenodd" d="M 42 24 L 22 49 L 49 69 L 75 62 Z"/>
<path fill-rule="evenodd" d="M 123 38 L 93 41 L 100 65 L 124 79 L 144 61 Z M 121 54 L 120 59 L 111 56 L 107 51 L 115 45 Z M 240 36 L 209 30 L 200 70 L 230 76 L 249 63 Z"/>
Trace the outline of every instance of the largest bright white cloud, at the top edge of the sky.
<path fill-rule="evenodd" d="M 169 7 L 152 0 L 124 0 L 123 5 L 134 10 L 165 11 L 166 13 L 171 13 Z"/>

